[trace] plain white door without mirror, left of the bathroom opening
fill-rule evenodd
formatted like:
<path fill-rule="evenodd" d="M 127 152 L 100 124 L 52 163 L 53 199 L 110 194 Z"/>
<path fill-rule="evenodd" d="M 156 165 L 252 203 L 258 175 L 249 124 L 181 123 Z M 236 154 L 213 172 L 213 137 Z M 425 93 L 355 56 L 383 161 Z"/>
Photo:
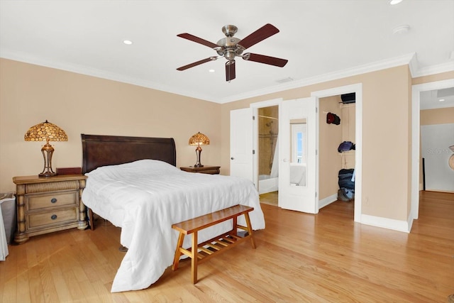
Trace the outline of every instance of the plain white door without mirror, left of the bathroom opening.
<path fill-rule="evenodd" d="M 230 112 L 230 175 L 253 181 L 253 111 Z"/>

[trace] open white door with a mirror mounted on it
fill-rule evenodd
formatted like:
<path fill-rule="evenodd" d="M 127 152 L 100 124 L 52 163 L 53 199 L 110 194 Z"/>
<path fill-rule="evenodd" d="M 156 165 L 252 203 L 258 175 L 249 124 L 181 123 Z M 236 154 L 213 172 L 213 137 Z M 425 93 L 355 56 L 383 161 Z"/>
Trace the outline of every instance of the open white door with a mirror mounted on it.
<path fill-rule="evenodd" d="M 283 101 L 279 109 L 279 207 L 319 212 L 316 201 L 316 97 Z"/>

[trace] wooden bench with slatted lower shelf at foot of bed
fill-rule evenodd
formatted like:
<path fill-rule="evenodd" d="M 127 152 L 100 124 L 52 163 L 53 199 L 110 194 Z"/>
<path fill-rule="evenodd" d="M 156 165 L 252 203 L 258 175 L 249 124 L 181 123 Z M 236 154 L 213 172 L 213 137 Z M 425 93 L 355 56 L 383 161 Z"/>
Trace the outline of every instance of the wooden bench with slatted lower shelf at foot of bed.
<path fill-rule="evenodd" d="M 206 214 L 204 216 L 198 216 L 194 219 L 189 219 L 187 221 L 179 222 L 177 224 L 172 224 L 172 228 L 179 231 L 177 249 L 175 250 L 175 258 L 173 260 L 172 270 L 177 270 L 179 257 L 181 255 L 187 255 L 191 258 L 191 268 L 192 268 L 192 283 L 196 284 L 197 282 L 197 265 L 202 263 L 210 258 L 213 258 L 214 255 L 226 251 L 234 246 L 237 246 L 239 243 L 246 241 L 250 238 L 250 243 L 255 248 L 255 241 L 253 238 L 253 228 L 250 225 L 249 212 L 253 211 L 254 208 L 244 205 L 236 205 L 228 207 L 227 209 L 221 209 L 220 211 L 215 211 L 211 214 Z M 245 216 L 247 226 L 238 225 L 238 216 Z M 209 241 L 199 243 L 197 245 L 197 232 L 201 231 L 204 228 L 219 224 L 223 221 L 233 219 L 233 228 L 227 233 L 223 233 L 220 236 L 212 238 Z M 243 229 L 247 233 L 244 236 L 238 235 L 238 228 Z M 192 233 L 192 247 L 189 249 L 183 248 L 184 235 L 189 235 Z"/>

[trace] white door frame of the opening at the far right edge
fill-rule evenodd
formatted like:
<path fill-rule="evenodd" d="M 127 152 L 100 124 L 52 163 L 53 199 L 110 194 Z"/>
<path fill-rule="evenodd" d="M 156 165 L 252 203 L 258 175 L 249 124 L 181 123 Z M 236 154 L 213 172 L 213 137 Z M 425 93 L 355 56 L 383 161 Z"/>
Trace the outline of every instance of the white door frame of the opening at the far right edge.
<path fill-rule="evenodd" d="M 411 87 L 411 220 L 419 218 L 419 159 L 421 159 L 421 92 L 454 87 L 454 79 L 416 84 Z M 410 226 L 411 228 L 411 226 Z"/>

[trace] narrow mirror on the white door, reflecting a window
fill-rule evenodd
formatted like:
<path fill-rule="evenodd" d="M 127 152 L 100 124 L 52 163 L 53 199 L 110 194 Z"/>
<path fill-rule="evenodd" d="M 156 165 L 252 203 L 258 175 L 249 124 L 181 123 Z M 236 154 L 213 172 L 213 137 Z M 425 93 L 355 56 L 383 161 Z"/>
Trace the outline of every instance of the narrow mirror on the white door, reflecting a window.
<path fill-rule="evenodd" d="M 290 120 L 290 185 L 306 186 L 307 179 L 306 119 Z"/>

